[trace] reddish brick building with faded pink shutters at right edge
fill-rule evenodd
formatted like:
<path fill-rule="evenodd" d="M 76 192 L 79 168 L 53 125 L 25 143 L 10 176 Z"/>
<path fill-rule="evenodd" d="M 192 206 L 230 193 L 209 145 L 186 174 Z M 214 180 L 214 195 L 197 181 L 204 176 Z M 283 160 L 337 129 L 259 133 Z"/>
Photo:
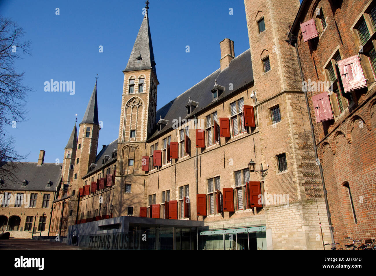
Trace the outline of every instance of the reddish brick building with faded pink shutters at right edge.
<path fill-rule="evenodd" d="M 375 1 L 321 0 L 302 2 L 289 34 L 340 244 L 376 236 L 375 30 Z"/>

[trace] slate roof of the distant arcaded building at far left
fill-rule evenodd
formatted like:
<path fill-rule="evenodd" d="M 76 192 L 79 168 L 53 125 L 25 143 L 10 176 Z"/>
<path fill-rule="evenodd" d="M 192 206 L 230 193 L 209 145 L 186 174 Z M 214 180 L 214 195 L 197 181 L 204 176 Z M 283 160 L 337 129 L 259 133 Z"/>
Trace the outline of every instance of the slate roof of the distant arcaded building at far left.
<path fill-rule="evenodd" d="M 8 163 L 0 163 L 0 167 L 8 166 L 9 170 L 14 172 L 15 177 L 4 176 L 4 184 L 1 186 L 5 190 L 17 191 L 56 191 L 62 179 L 62 169 L 60 165 L 55 163 L 43 163 L 38 166 L 36 162 L 16 163 L 15 168 Z M 23 185 L 24 180 L 28 181 L 26 186 Z M 47 182 L 51 180 L 52 185 L 47 187 Z"/>

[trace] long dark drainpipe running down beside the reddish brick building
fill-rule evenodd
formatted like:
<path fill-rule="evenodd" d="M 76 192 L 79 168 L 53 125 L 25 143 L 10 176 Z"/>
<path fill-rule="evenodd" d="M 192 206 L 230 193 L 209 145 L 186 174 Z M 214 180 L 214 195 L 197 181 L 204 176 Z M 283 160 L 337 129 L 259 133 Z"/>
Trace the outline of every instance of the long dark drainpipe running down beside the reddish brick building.
<path fill-rule="evenodd" d="M 300 63 L 300 56 L 299 56 L 299 51 L 298 51 L 298 45 L 296 43 L 294 43 L 294 46 L 295 46 L 296 56 L 297 56 L 298 64 L 299 64 L 300 77 L 302 78 L 302 82 L 303 82 L 304 81 L 304 76 L 303 76 L 303 71 L 302 71 L 302 64 Z M 315 150 L 315 158 L 316 158 L 316 160 L 318 160 L 318 168 L 320 169 L 321 183 L 323 185 L 324 199 L 325 199 L 325 206 L 326 206 L 326 214 L 327 214 L 328 223 L 329 223 L 329 230 L 330 230 L 330 235 L 331 235 L 331 238 L 332 238 L 332 243 L 334 243 L 333 226 L 332 226 L 332 220 L 331 220 L 331 213 L 329 212 L 328 198 L 327 198 L 327 195 L 326 195 L 327 191 L 326 191 L 326 188 L 325 188 L 323 168 L 321 166 L 320 160 L 318 159 L 318 155 L 317 155 L 315 132 L 314 132 L 313 124 L 312 124 L 311 110 L 310 110 L 309 104 L 308 104 L 308 96 L 307 96 L 307 90 L 306 90 L 305 85 L 303 85 L 303 88 L 304 88 L 304 96 L 305 96 L 307 110 L 308 110 L 309 124 L 311 125 L 311 135 L 312 135 L 312 141 L 313 141 L 313 148 Z M 335 245 L 334 245 L 334 247 L 335 247 Z"/>

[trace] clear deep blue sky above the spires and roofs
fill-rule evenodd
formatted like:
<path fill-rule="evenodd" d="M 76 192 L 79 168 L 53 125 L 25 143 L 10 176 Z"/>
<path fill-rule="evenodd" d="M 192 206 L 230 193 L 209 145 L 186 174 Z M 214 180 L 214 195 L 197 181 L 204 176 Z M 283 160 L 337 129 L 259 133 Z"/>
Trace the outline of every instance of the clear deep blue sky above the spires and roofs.
<path fill-rule="evenodd" d="M 62 162 L 75 114 L 81 122 L 97 83 L 99 149 L 118 137 L 123 72 L 141 21 L 145 1 L 1 1 L 0 14 L 16 21 L 32 41 L 32 56 L 17 62 L 25 71 L 29 120 L 7 128 L 20 154 L 37 162 Z M 249 49 L 243 0 L 150 0 L 158 86 L 157 109 L 220 67 L 219 42 L 233 40 L 235 56 Z M 60 15 L 55 15 L 55 9 Z M 233 15 L 229 15 L 229 9 Z M 103 53 L 99 53 L 99 46 Z M 190 53 L 185 52 L 186 45 Z M 44 82 L 75 81 L 76 94 L 45 92 Z M 78 127 L 78 126 L 77 126 Z"/>

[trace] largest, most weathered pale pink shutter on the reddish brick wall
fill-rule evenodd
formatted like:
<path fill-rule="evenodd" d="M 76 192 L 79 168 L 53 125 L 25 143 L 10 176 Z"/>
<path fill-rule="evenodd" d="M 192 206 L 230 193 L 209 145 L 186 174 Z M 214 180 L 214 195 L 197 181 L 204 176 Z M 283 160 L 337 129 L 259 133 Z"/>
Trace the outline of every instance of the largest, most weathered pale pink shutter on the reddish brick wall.
<path fill-rule="evenodd" d="M 339 60 L 337 63 L 345 92 L 367 86 L 357 55 Z"/>

